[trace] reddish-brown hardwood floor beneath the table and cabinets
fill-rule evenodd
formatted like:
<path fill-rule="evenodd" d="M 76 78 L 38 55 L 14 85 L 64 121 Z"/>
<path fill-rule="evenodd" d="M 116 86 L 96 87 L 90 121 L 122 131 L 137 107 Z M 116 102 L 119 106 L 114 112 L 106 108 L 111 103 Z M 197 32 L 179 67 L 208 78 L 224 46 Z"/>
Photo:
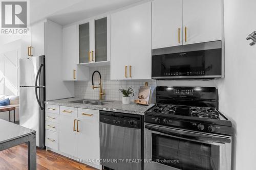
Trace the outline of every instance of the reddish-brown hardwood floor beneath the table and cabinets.
<path fill-rule="evenodd" d="M 21 144 L 11 149 L 0 152 L 0 169 L 23 170 L 28 169 L 28 149 L 26 144 Z M 37 169 L 53 170 L 96 170 L 86 164 L 77 163 L 75 160 L 56 154 L 52 151 L 37 149 L 36 151 Z"/>

